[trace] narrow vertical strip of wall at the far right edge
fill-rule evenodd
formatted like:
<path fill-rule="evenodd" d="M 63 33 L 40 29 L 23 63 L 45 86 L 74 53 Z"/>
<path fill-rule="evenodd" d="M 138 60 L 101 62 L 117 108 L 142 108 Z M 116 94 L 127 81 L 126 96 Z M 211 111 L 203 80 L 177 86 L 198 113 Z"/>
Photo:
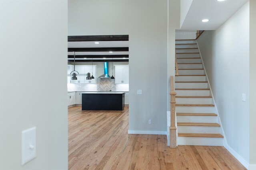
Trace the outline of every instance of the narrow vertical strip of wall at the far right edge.
<path fill-rule="evenodd" d="M 250 166 L 256 170 L 256 1 L 250 0 Z"/>

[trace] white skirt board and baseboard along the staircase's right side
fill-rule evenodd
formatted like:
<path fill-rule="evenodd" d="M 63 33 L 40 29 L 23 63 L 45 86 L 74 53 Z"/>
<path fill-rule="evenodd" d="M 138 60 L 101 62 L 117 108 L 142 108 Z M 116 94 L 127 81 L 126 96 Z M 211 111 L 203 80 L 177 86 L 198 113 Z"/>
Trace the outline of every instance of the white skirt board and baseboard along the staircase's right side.
<path fill-rule="evenodd" d="M 203 67 L 204 67 L 204 61 L 202 59 L 202 55 L 201 55 L 201 52 L 200 52 L 200 48 L 199 48 L 199 45 L 198 45 L 198 42 L 196 40 L 196 43 L 197 43 L 197 46 L 198 46 L 198 51 L 199 51 L 199 54 L 200 54 L 200 57 L 201 57 L 201 60 L 202 60 L 202 64 L 203 64 Z M 212 93 L 212 88 L 211 88 L 211 85 L 210 85 L 210 82 L 209 82 L 209 79 L 208 79 L 208 76 L 207 76 L 207 73 L 206 73 L 206 69 L 204 67 L 204 70 L 205 70 L 205 74 L 206 74 L 206 78 L 208 80 L 208 84 L 209 84 L 209 87 L 210 87 L 210 91 Z M 218 115 L 218 119 L 219 119 L 219 123 L 220 123 L 220 127 L 221 127 L 221 130 L 222 130 L 222 135 L 224 137 L 224 140 L 223 140 L 223 146 L 246 168 L 248 169 L 249 168 L 249 164 L 248 162 L 246 162 L 246 160 L 244 160 L 244 158 L 242 158 L 235 150 L 233 150 L 229 145 L 228 145 L 228 142 L 227 142 L 227 139 L 226 139 L 226 135 L 224 133 L 224 130 L 223 130 L 223 126 L 222 126 L 222 123 L 221 123 L 221 120 L 220 120 L 220 116 L 219 116 L 219 113 L 218 113 L 218 108 L 217 108 L 217 105 L 215 103 L 215 100 L 214 100 L 214 96 L 213 96 L 213 93 L 212 93 L 212 100 L 214 102 L 214 106 L 216 108 L 216 113 Z M 255 168 L 255 169 L 254 169 Z M 249 168 L 249 170 L 251 170 Z M 252 165 L 252 170 L 256 170 L 256 165 Z"/>

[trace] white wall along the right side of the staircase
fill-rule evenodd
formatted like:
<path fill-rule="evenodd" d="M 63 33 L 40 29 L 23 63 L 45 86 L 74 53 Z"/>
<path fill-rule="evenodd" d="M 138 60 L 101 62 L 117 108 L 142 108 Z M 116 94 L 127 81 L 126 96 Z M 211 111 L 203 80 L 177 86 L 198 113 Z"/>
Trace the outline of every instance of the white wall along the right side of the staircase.
<path fill-rule="evenodd" d="M 216 31 L 204 31 L 198 45 L 227 144 L 248 163 L 249 3 Z"/>

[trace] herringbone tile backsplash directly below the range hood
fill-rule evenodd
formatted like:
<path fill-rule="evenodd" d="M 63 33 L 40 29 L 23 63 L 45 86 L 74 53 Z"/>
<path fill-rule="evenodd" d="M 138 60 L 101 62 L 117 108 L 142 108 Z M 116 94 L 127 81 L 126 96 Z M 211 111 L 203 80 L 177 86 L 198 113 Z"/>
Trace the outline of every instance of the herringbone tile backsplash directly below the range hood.
<path fill-rule="evenodd" d="M 97 78 L 98 91 L 116 91 L 115 79 L 110 78 Z"/>

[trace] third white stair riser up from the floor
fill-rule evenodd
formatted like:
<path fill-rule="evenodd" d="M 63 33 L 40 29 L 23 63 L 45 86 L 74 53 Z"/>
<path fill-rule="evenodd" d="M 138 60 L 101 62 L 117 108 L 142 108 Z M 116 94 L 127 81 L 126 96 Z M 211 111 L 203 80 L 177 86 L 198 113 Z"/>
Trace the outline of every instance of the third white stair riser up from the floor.
<path fill-rule="evenodd" d="M 216 123 L 217 122 L 217 116 L 179 116 L 179 115 L 177 115 L 177 122 Z M 179 126 L 179 127 L 185 127 L 185 126 Z M 191 127 L 191 126 L 189 126 L 189 127 Z M 185 129 L 185 128 L 183 128 L 183 129 Z M 219 131 L 217 131 L 217 132 L 219 133 Z M 184 132 L 181 132 L 181 133 L 201 133 L 201 132 L 197 132 L 197 131 L 195 131 L 195 132 L 186 132 L 186 131 L 184 131 Z M 208 132 L 204 132 L 204 133 L 208 133 Z"/>

